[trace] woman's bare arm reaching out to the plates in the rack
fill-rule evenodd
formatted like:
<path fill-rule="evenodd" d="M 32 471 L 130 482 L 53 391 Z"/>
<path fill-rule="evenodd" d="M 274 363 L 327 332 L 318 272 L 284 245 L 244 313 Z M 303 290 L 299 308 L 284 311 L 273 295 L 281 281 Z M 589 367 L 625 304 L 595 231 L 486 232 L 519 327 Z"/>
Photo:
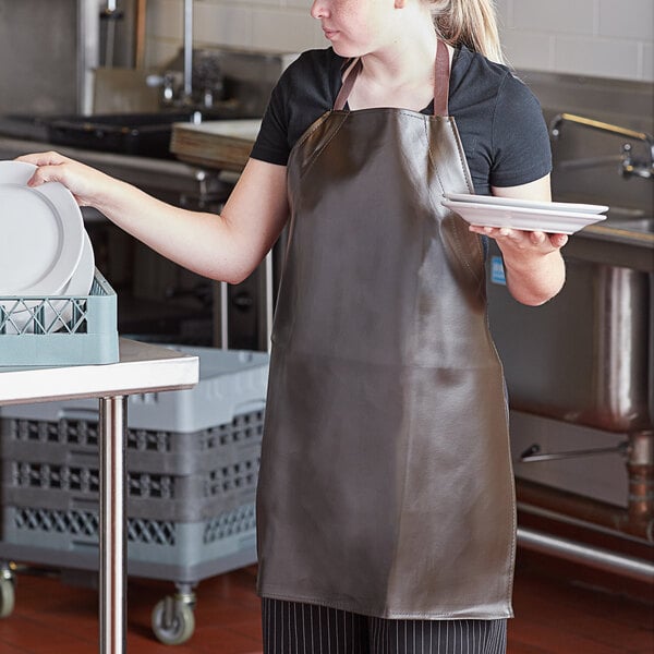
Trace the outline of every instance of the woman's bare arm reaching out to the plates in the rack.
<path fill-rule="evenodd" d="M 61 182 L 81 206 L 109 220 L 177 264 L 238 283 L 261 263 L 288 217 L 286 167 L 250 159 L 220 214 L 190 211 L 160 202 L 135 186 L 63 157 L 20 157 L 35 164 L 31 185 Z"/>

